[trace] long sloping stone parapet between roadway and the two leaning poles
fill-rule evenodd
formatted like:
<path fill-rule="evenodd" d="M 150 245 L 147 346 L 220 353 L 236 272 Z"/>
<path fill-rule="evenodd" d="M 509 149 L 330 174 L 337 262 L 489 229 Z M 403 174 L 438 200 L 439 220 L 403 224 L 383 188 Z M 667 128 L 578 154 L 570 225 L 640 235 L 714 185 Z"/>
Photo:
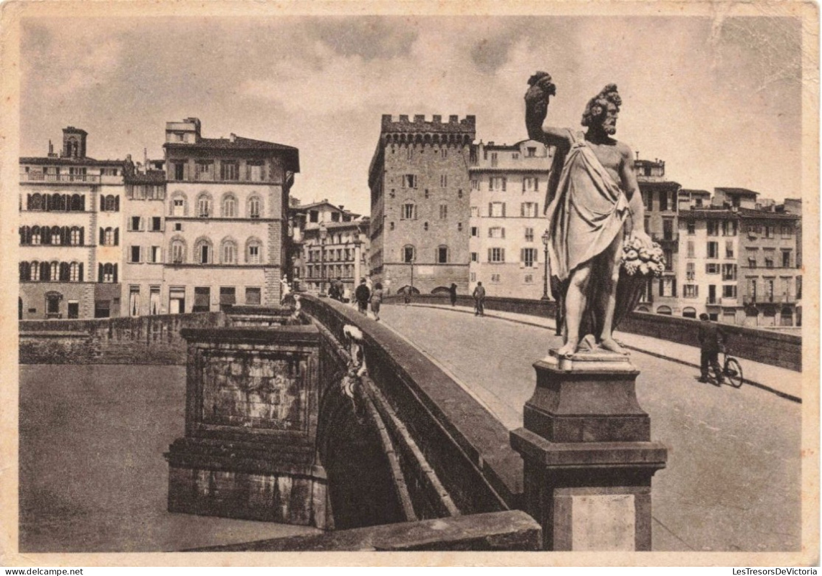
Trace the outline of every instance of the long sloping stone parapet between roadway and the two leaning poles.
<path fill-rule="evenodd" d="M 346 325 L 362 331 L 370 379 L 460 514 L 520 506 L 522 459 L 510 447 L 506 427 L 468 392 L 405 339 L 351 306 L 303 296 L 302 311 L 339 342 Z"/>

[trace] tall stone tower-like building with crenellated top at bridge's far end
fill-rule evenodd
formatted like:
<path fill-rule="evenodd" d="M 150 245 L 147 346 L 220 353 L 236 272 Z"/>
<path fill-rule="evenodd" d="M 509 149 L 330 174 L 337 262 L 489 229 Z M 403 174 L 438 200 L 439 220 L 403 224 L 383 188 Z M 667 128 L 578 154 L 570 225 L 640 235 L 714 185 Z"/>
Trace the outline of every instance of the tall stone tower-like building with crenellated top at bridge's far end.
<path fill-rule="evenodd" d="M 469 287 L 469 154 L 476 119 L 382 117 L 368 169 L 370 269 L 388 293 Z"/>

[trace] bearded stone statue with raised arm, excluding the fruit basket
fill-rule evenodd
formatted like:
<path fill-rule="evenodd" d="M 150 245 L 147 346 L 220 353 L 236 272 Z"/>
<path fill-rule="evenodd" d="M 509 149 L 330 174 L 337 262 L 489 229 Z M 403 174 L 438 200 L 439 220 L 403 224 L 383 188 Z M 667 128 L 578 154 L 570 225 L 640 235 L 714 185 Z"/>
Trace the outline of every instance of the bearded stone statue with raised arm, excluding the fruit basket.
<path fill-rule="evenodd" d="M 525 125 L 529 138 L 555 146 L 548 178 L 546 214 L 549 262 L 561 284 L 564 344 L 556 352 L 569 357 L 587 348 L 626 351 L 613 339 L 617 282 L 626 222 L 632 241 L 647 250 L 644 206 L 630 147 L 612 138 L 622 100 L 609 84 L 589 100 L 582 117 L 588 130 L 543 127 L 548 99 L 556 85 L 547 72 L 529 79 Z"/>

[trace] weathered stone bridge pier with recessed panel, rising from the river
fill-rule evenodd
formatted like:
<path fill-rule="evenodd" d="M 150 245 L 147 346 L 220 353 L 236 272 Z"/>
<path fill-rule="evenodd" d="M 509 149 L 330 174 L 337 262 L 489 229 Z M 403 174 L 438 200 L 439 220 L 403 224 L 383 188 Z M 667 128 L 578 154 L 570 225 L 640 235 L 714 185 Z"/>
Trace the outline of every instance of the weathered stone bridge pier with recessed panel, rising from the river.
<path fill-rule="evenodd" d="M 316 462 L 314 326 L 185 329 L 186 433 L 165 454 L 169 512 L 332 528 Z"/>

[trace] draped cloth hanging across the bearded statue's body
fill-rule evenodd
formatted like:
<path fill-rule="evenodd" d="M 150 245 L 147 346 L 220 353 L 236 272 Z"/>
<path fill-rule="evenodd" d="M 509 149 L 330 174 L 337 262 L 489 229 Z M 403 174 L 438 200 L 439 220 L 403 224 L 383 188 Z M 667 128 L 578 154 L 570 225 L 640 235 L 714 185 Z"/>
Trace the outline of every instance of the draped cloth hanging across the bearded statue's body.
<path fill-rule="evenodd" d="M 628 200 L 582 132 L 568 131 L 570 150 L 546 210 L 551 274 L 566 280 L 611 245 L 628 214 Z M 551 194 L 552 191 L 549 191 Z"/>

